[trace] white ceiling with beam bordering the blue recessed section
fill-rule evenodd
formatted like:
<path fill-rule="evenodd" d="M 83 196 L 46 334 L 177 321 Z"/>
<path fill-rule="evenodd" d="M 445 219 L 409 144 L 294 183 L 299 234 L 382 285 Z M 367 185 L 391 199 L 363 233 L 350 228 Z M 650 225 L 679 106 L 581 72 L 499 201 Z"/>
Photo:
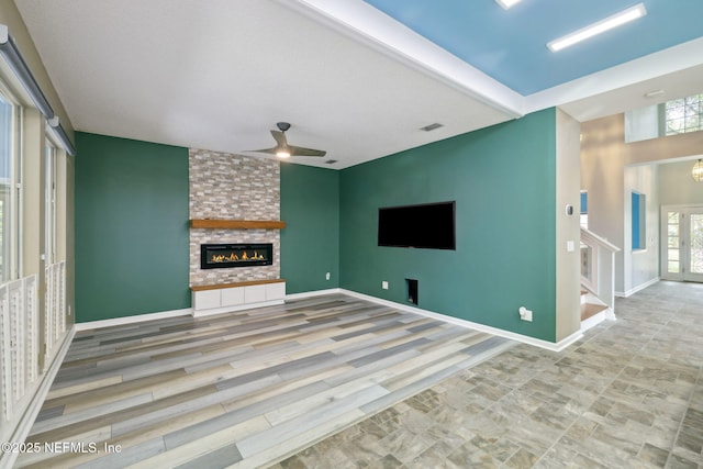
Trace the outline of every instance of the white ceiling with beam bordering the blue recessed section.
<path fill-rule="evenodd" d="M 361 0 L 16 4 L 76 130 L 245 153 L 288 121 L 290 144 L 327 150 L 294 163 L 335 169 L 551 105 L 582 121 L 703 82 L 696 40 L 522 97 Z"/>

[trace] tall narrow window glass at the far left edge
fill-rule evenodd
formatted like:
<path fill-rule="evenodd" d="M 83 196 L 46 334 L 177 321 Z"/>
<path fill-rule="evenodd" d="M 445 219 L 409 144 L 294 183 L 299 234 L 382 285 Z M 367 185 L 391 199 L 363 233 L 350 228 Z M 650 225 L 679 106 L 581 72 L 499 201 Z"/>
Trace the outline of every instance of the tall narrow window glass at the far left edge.
<path fill-rule="evenodd" d="M 0 89 L 0 282 L 20 276 L 19 113 Z"/>

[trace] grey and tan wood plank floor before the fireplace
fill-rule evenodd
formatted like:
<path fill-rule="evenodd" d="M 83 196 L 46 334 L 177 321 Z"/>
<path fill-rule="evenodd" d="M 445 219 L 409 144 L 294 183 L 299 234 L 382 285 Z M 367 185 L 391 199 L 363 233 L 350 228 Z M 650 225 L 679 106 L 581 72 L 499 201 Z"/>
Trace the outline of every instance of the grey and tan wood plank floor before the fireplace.
<path fill-rule="evenodd" d="M 266 467 L 513 345 L 342 294 L 85 331 L 18 466 Z"/>

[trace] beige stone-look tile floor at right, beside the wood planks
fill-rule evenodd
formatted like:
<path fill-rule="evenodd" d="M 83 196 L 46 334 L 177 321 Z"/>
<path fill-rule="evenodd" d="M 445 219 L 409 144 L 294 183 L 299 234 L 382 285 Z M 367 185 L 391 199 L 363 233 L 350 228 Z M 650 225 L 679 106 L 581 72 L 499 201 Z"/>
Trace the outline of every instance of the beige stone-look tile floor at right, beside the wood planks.
<path fill-rule="evenodd" d="M 703 284 L 615 311 L 562 353 L 513 347 L 272 468 L 703 468 Z"/>

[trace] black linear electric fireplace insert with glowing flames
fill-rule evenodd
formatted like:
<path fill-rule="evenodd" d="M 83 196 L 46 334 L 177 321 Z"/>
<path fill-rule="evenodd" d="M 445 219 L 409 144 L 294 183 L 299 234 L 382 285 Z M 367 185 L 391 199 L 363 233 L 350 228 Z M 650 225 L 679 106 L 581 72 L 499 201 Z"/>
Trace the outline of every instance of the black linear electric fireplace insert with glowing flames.
<path fill-rule="evenodd" d="M 274 245 L 264 244 L 201 244 L 200 268 L 270 266 L 274 264 Z"/>

